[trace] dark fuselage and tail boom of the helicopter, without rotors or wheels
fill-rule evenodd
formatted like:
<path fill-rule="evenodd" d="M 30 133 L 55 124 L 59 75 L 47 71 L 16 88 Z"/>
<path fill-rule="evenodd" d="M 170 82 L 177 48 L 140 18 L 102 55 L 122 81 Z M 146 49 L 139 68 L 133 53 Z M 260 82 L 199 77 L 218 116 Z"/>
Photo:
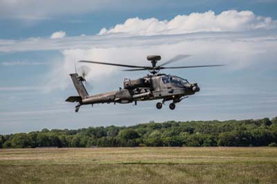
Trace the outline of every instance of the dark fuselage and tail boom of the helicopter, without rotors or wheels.
<path fill-rule="evenodd" d="M 80 101 L 80 104 L 99 103 L 120 103 L 127 104 L 143 100 L 159 100 L 162 103 L 173 100 L 173 103 L 180 102 L 184 96 L 193 95 L 199 91 L 199 86 L 190 84 L 188 80 L 175 75 L 156 74 L 146 75 L 137 80 L 125 79 L 123 89 L 87 95 Z"/>

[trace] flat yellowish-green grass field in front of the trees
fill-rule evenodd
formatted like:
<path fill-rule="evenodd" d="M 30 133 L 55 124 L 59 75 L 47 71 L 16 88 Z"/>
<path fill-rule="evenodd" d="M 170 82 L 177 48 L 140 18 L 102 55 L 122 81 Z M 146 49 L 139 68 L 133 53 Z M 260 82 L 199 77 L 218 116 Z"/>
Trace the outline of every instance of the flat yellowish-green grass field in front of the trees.
<path fill-rule="evenodd" d="M 0 149 L 0 183 L 277 183 L 277 148 Z"/>

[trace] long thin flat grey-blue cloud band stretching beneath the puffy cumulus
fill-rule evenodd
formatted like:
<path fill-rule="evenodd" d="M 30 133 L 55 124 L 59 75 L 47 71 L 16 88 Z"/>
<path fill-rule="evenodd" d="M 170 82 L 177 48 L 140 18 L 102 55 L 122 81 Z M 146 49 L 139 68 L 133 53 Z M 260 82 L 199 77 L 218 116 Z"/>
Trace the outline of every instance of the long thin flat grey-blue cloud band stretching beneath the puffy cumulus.
<path fill-rule="evenodd" d="M 107 34 L 95 36 L 64 37 L 62 39 L 30 38 L 21 40 L 0 39 L 0 53 L 17 53 L 39 50 L 69 50 L 88 48 L 112 48 L 129 46 L 159 46 L 174 44 L 186 40 L 229 40 L 233 42 L 276 42 L 276 30 L 271 32 L 248 33 L 191 33 L 183 35 L 130 36 Z"/>

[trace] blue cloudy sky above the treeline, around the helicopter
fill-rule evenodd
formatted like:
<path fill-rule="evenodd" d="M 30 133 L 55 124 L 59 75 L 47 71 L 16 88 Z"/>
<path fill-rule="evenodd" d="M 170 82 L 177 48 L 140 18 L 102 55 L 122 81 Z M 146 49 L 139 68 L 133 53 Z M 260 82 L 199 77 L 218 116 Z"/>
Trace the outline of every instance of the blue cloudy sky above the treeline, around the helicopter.
<path fill-rule="evenodd" d="M 0 134 L 47 129 L 129 126 L 152 120 L 242 120 L 277 116 L 277 1 L 19 1 L 0 0 Z M 75 62 L 149 65 L 197 82 L 200 92 L 158 110 L 158 101 L 82 106 L 69 77 Z M 77 64 L 77 68 L 82 64 Z M 87 65 L 89 94 L 118 90 L 125 77 L 114 66 Z"/>

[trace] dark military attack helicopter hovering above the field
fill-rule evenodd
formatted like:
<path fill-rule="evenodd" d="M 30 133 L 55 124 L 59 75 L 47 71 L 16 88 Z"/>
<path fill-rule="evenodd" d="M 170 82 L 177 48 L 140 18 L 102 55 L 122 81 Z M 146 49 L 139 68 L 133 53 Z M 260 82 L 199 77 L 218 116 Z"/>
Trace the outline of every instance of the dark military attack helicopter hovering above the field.
<path fill-rule="evenodd" d="M 128 104 L 137 101 L 145 100 L 161 100 L 157 102 L 157 109 L 161 109 L 166 101 L 172 101 L 169 104 L 171 110 L 175 109 L 175 104 L 188 98 L 188 95 L 193 95 L 200 91 L 197 83 L 190 83 L 188 80 L 178 77 L 176 75 L 168 75 L 159 73 L 163 69 L 176 69 L 176 68 L 199 68 L 199 67 L 211 67 L 211 66 L 224 66 L 224 64 L 212 64 L 212 65 L 198 65 L 198 66 L 170 66 L 165 65 L 172 62 L 177 62 L 190 55 L 177 55 L 167 62 L 163 62 L 161 65 L 157 65 L 157 62 L 161 60 L 160 55 L 148 55 L 147 59 L 151 62 L 152 66 L 135 66 L 127 64 L 115 64 L 107 62 L 95 62 L 81 60 L 81 63 L 87 64 L 105 64 L 111 66 L 127 67 L 123 71 L 149 71 L 150 74 L 145 75 L 139 79 L 131 80 L 125 78 L 123 81 L 123 88 L 119 88 L 118 91 L 111 91 L 107 93 L 100 93 L 96 95 L 89 95 L 87 89 L 84 87 L 86 72 L 82 72 L 82 75 L 78 75 L 77 72 L 69 74 L 71 80 L 78 92 L 78 96 L 70 96 L 66 99 L 66 102 L 78 102 L 75 106 L 75 112 L 78 112 L 82 105 L 91 104 L 103 104 L 103 103 L 119 103 Z"/>

